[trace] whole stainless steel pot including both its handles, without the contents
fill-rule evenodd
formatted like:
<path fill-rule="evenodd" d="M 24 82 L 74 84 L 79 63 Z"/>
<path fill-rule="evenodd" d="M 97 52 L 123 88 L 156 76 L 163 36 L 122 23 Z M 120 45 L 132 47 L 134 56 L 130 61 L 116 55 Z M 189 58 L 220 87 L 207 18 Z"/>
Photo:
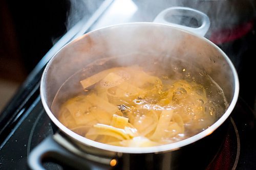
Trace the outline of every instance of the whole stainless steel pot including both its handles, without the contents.
<path fill-rule="evenodd" d="M 202 37 L 209 28 L 207 16 L 179 7 L 163 11 L 155 21 L 168 21 L 166 17 L 180 15 L 181 11 L 198 18 L 201 26 L 185 31 L 186 27 L 178 28 L 173 23 L 140 22 L 103 28 L 70 42 L 50 60 L 41 79 L 41 100 L 60 132 L 32 151 L 29 156 L 32 169 L 44 169 L 41 162 L 49 158 L 76 168 L 91 168 L 92 164 L 118 169 L 205 168 L 224 138 L 228 117 L 238 99 L 239 81 L 236 69 L 224 52 Z M 157 147 L 116 147 L 84 138 L 63 126 L 51 105 L 58 89 L 72 75 L 88 65 L 101 68 L 113 56 L 116 65 L 158 60 L 163 66 L 176 64 L 179 69 L 203 71 L 203 76 L 208 75 L 221 87 L 229 106 L 208 129 Z M 203 79 L 200 71 L 196 77 L 199 81 Z"/>

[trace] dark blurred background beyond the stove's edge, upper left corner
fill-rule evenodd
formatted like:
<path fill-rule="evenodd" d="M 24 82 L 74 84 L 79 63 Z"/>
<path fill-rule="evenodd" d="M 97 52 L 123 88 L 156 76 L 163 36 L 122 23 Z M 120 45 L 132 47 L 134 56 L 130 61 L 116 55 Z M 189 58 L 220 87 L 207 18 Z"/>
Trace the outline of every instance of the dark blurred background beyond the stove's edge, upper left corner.
<path fill-rule="evenodd" d="M 0 112 L 67 32 L 69 1 L 0 1 Z"/>

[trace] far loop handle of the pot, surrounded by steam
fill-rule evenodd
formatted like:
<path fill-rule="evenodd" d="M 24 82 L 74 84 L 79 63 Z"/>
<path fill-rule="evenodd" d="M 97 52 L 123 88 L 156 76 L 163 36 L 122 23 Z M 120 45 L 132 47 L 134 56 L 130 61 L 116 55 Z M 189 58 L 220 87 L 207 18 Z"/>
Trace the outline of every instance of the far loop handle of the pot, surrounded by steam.
<path fill-rule="evenodd" d="M 153 22 L 178 27 L 204 37 L 210 27 L 209 17 L 196 9 L 170 7 L 160 12 Z"/>

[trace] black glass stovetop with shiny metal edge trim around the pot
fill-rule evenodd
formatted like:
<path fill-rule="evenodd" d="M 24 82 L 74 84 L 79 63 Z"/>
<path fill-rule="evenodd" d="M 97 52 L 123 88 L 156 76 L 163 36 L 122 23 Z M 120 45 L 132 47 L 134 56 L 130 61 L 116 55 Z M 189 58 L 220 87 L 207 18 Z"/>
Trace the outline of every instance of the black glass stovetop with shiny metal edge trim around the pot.
<path fill-rule="evenodd" d="M 80 23 L 83 27 L 77 26 L 74 35 L 64 36 L 53 46 L 0 114 L 0 169 L 28 169 L 27 158 L 31 150 L 53 134 L 50 118 L 40 101 L 39 82 L 42 70 L 54 53 L 70 40 L 92 30 L 125 22 L 152 21 L 157 13 L 168 6 L 158 5 L 150 12 L 144 7 L 137 1 L 102 1 L 90 19 Z M 224 145 L 207 169 L 256 169 L 256 114 L 252 109 L 254 105 L 251 104 L 253 101 L 250 95 L 255 94 L 255 84 L 247 81 L 244 74 L 252 64 L 250 55 L 256 52 L 253 47 L 256 44 L 254 30 L 253 27 L 246 36 L 236 41 L 218 44 L 238 70 L 241 92 L 230 116 L 232 126 Z M 240 54 L 235 55 L 233 49 L 238 51 L 240 47 Z M 248 88 L 252 88 L 251 93 L 247 93 Z M 46 167 L 61 169 L 56 164 L 47 164 Z"/>

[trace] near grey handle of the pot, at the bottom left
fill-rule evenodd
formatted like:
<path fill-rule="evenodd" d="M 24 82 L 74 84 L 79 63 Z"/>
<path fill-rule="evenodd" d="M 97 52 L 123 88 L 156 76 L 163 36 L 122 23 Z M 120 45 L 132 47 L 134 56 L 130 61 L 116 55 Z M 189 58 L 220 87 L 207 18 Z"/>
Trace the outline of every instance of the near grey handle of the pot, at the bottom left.
<path fill-rule="evenodd" d="M 33 170 L 45 170 L 43 163 L 54 162 L 63 169 L 109 169 L 110 166 L 94 163 L 75 155 L 55 141 L 54 136 L 48 136 L 37 145 L 28 156 L 28 165 Z"/>

